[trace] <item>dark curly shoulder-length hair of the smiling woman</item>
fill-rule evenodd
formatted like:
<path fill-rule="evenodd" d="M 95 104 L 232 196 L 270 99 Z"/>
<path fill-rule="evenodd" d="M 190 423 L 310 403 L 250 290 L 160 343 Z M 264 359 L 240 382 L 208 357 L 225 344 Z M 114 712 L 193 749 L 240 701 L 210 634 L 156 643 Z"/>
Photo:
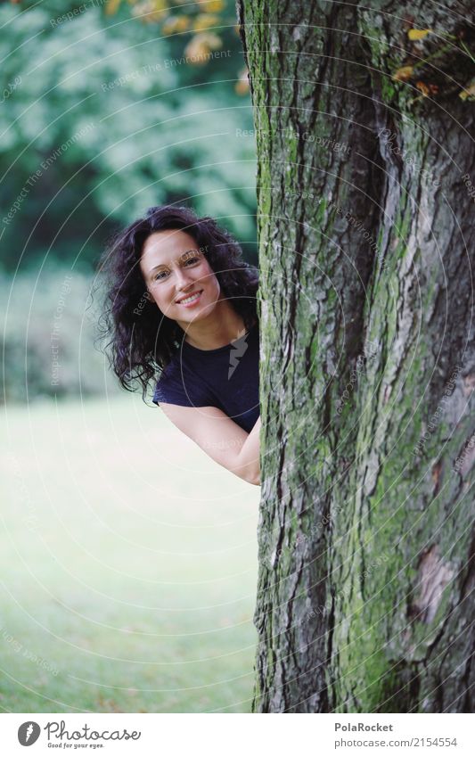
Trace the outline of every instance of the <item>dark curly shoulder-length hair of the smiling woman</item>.
<path fill-rule="evenodd" d="M 147 210 L 145 218 L 111 238 L 99 267 L 105 275 L 98 324 L 101 350 L 124 389 L 135 391 L 136 382 L 142 384 L 143 400 L 152 377 L 168 365 L 184 339 L 183 329 L 149 297 L 139 265 L 147 237 L 167 229 L 185 231 L 205 250 L 222 298 L 229 300 L 248 331 L 258 320 L 258 269 L 242 259 L 232 235 L 213 218 L 198 218 L 189 208 L 164 205 Z"/>

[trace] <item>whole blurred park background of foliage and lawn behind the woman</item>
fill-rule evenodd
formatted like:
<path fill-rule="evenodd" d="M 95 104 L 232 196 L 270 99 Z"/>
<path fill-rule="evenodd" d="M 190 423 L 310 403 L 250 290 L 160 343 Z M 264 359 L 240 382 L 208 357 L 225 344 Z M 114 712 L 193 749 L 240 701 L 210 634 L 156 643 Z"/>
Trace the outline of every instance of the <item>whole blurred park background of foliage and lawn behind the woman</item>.
<path fill-rule="evenodd" d="M 0 24 L 0 707 L 248 712 L 259 490 L 119 389 L 91 294 L 164 202 L 257 263 L 234 4 L 4 2 Z"/>

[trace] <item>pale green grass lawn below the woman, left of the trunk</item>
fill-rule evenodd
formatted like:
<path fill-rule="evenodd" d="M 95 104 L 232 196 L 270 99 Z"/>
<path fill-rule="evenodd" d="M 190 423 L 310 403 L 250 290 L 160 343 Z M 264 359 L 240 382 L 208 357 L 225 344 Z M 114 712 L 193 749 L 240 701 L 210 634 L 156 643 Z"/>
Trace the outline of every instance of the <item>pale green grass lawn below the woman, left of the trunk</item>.
<path fill-rule="evenodd" d="M 137 395 L 4 409 L 3 712 L 250 712 L 260 490 Z"/>

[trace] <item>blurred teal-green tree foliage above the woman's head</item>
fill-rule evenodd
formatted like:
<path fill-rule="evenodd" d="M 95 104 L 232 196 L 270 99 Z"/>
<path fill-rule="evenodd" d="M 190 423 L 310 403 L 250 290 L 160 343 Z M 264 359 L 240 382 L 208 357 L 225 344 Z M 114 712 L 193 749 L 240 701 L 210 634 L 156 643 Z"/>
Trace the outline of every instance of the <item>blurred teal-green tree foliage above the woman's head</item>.
<path fill-rule="evenodd" d="M 112 16 L 92 0 L 0 8 L 8 269 L 46 256 L 94 263 L 113 229 L 161 202 L 221 217 L 244 243 L 255 236 L 254 144 L 236 136 L 252 128 L 249 95 L 234 91 L 239 37 L 228 29 L 219 57 L 187 65 L 183 37 L 126 5 Z"/>

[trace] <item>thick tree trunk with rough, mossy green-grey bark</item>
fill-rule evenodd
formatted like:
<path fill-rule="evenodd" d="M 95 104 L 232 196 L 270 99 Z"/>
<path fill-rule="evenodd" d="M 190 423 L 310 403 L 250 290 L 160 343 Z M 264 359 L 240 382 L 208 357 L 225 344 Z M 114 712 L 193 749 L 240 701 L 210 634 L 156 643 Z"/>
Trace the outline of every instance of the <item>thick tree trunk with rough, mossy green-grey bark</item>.
<path fill-rule="evenodd" d="M 473 712 L 473 4 L 238 13 L 265 426 L 253 709 Z"/>

